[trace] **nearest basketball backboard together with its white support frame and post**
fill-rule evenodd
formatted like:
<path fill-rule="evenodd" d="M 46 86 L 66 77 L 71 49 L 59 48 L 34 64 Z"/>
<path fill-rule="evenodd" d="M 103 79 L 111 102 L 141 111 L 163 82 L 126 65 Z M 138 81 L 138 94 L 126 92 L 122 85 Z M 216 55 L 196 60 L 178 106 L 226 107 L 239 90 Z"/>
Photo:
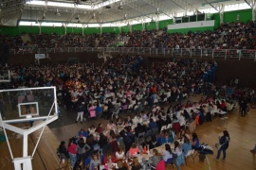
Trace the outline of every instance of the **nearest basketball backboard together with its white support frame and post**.
<path fill-rule="evenodd" d="M 32 169 L 31 160 L 44 129 L 47 124 L 58 119 L 57 112 L 58 105 L 55 87 L 0 90 L 0 127 L 3 127 L 5 132 L 15 170 Z M 34 121 L 37 121 L 37 123 L 29 128 L 15 126 L 21 125 L 16 123 Z M 6 129 L 23 135 L 23 155 L 21 157 L 13 157 Z M 38 129 L 41 129 L 40 137 L 31 156 L 28 156 L 27 136 Z"/>

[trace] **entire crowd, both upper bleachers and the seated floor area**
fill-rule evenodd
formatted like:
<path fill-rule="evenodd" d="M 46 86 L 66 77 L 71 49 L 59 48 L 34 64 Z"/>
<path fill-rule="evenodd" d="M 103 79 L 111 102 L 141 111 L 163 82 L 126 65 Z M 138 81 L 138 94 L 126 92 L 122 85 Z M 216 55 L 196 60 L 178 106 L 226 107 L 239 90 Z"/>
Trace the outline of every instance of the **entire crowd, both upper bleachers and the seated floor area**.
<path fill-rule="evenodd" d="M 161 32 L 135 31 L 121 36 L 129 37 L 129 41 L 124 43 L 127 47 L 166 48 L 178 44 L 180 48 L 254 49 L 254 43 L 247 43 L 254 38 L 254 29 L 254 23 L 234 23 L 222 25 L 213 32 L 184 35 L 168 34 L 164 29 Z M 99 39 L 100 46 L 107 46 L 114 42 L 115 36 L 94 34 L 82 37 L 76 34 L 60 37 L 44 34 L 31 35 L 31 38 L 39 47 L 49 47 L 49 44 L 66 47 L 94 46 L 96 39 Z M 8 42 L 15 45 L 20 41 L 9 39 Z M 172 58 L 146 69 L 142 57 L 129 55 L 119 55 L 103 65 L 54 63 L 8 67 L 13 88 L 56 86 L 65 109 L 78 112 L 74 120 L 76 123 L 99 117 L 110 119 L 115 115 L 117 121 L 109 121 L 106 127 L 100 123 L 98 127 L 82 128 L 68 144 L 60 144 L 58 153 L 61 159 L 70 159 L 72 168 L 94 169 L 100 164 L 109 166 L 117 163 L 116 169 L 124 170 L 147 169 L 151 165 L 157 166 L 161 160 L 174 163 L 180 155 L 185 156 L 192 149 L 199 150 L 197 134 L 192 133 L 191 137 L 186 132 L 188 123 L 195 121 L 201 125 L 204 121 L 211 121 L 218 110 L 232 110 L 236 101 L 241 117 L 246 116 L 249 104 L 256 101 L 254 90 L 239 87 L 237 78 L 227 84 L 214 82 L 216 68 L 215 61 Z M 183 102 L 185 98 L 199 93 L 206 97 L 197 103 Z M 159 103 L 175 105 L 165 109 Z M 0 110 L 4 110 L 2 97 Z M 134 116 L 122 119 L 118 113 L 114 114 L 125 110 L 135 113 Z M 162 129 L 170 124 L 173 127 Z M 145 140 L 139 143 L 139 134 L 143 132 L 146 132 Z M 215 161 L 219 161 L 221 152 L 223 161 L 226 159 L 230 138 L 228 131 L 223 133 Z M 163 144 L 164 150 L 156 149 Z M 148 149 L 152 150 L 152 156 L 145 162 L 137 153 L 145 153 Z"/>

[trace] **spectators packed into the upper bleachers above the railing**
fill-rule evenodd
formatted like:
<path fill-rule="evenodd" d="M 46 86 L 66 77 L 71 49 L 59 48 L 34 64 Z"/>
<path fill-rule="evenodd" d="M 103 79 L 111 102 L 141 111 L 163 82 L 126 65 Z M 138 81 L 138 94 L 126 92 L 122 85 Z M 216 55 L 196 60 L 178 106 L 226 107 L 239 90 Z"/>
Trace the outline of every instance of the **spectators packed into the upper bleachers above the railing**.
<path fill-rule="evenodd" d="M 192 48 L 192 49 L 255 49 L 254 22 L 226 23 L 213 31 L 189 31 L 188 33 L 168 33 L 162 30 L 143 30 L 120 33 L 119 40 L 127 40 L 124 47 L 152 47 L 152 48 Z M 114 33 L 101 35 L 83 35 L 69 33 L 61 37 L 57 34 L 29 34 L 33 44 L 39 48 L 50 47 L 107 47 L 118 42 Z M 9 46 L 14 48 L 20 45 L 19 37 L 3 36 L 8 39 Z M 125 39 L 124 39 L 125 38 Z M 97 43 L 97 40 L 99 43 Z"/>

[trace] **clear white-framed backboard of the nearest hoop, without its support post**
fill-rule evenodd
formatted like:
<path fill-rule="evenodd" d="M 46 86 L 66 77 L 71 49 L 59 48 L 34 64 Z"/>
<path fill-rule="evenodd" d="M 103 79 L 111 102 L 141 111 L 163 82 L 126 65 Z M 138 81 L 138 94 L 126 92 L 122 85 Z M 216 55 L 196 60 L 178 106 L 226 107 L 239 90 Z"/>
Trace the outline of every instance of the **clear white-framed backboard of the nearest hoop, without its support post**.
<path fill-rule="evenodd" d="M 56 100 L 54 87 L 1 90 L 0 111 L 6 123 L 44 120 L 57 112 Z"/>

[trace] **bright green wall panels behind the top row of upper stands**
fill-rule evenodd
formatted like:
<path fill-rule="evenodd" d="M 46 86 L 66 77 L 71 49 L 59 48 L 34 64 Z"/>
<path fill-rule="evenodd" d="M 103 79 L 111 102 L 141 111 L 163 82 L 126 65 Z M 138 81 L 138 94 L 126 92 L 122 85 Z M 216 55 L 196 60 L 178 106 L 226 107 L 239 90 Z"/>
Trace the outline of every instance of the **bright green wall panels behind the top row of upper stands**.
<path fill-rule="evenodd" d="M 224 23 L 228 22 L 237 22 L 237 15 L 239 15 L 239 21 L 247 22 L 252 20 L 252 10 L 251 9 L 244 9 L 244 10 L 235 10 L 235 11 L 227 11 L 224 13 Z M 181 32 L 186 33 L 188 31 L 196 31 L 196 30 L 213 30 L 213 28 L 217 28 L 220 26 L 220 15 L 219 13 L 213 14 L 215 24 L 214 27 L 198 27 L 198 28 L 184 28 L 178 30 L 172 30 L 169 32 Z M 172 25 L 173 20 L 165 20 L 159 22 L 159 28 L 165 28 L 168 25 Z M 145 24 L 145 28 L 148 30 L 155 29 L 155 22 L 151 22 L 150 25 Z M 132 30 L 142 30 L 141 24 L 132 26 Z M 41 28 L 42 33 L 56 33 L 60 35 L 64 35 L 64 27 L 53 27 L 53 26 L 42 26 Z M 129 26 L 122 26 L 121 32 L 129 32 Z M 1 26 L 0 27 L 0 34 L 11 35 L 11 36 L 18 36 L 22 33 L 33 33 L 39 34 L 39 26 Z M 111 26 L 111 27 L 102 27 L 103 33 L 114 32 L 119 34 L 119 27 L 118 26 Z M 66 33 L 81 33 L 82 34 L 82 27 L 66 27 Z M 100 34 L 101 29 L 96 27 L 84 27 L 83 34 Z"/>

